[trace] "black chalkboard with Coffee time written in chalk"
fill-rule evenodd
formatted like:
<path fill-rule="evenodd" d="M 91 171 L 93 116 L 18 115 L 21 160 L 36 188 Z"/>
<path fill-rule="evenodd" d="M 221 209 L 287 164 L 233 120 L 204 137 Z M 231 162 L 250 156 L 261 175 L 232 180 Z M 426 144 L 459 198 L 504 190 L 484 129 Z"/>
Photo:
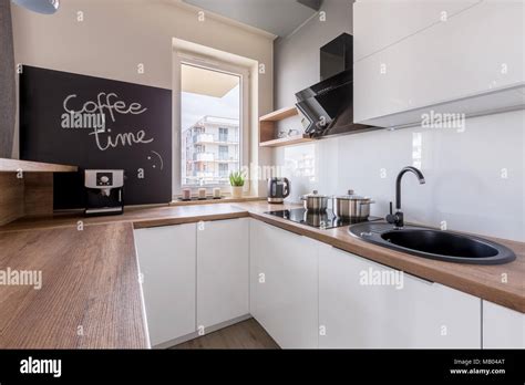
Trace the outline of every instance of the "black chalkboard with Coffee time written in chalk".
<path fill-rule="evenodd" d="M 172 91 L 23 66 L 20 158 L 124 169 L 125 205 L 172 200 Z M 55 174 L 54 208 L 83 206 L 83 175 Z"/>

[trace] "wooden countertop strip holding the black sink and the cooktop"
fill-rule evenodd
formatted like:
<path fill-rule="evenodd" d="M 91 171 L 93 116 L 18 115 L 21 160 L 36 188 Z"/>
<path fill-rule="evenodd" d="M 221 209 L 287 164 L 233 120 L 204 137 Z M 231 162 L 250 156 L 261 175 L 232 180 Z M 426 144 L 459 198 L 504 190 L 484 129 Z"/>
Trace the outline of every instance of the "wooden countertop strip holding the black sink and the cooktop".
<path fill-rule="evenodd" d="M 516 253 L 516 260 L 511 263 L 482 266 L 443 262 L 368 243 L 352 237 L 347 226 L 320 230 L 265 214 L 284 209 L 282 205 L 250 202 L 237 206 L 249 210 L 253 218 L 285 230 L 525 313 L 525 243 L 523 242 L 484 237 L 511 248 Z"/>

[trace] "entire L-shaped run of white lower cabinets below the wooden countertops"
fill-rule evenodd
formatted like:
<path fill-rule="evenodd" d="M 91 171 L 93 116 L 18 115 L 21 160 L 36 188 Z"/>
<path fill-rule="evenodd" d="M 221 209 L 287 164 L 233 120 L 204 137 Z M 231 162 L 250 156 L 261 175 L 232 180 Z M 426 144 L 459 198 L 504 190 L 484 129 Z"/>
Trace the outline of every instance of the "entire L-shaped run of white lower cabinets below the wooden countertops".
<path fill-rule="evenodd" d="M 250 313 L 284 348 L 525 347 L 525 314 L 259 220 L 135 242 L 153 346 Z"/>

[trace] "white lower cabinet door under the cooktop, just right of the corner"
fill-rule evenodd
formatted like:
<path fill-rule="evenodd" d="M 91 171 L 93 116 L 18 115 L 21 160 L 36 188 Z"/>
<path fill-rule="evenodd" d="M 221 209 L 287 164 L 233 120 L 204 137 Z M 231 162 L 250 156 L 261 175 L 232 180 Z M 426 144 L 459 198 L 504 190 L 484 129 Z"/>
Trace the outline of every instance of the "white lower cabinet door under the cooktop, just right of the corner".
<path fill-rule="evenodd" d="M 250 311 L 282 348 L 318 346 L 318 244 L 251 222 Z"/>

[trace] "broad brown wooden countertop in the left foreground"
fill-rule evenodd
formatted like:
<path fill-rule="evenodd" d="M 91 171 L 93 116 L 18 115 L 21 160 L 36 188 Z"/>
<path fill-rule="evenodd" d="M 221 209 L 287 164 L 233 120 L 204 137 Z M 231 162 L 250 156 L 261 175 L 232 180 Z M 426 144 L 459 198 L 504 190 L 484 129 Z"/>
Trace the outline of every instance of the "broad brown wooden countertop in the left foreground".
<path fill-rule="evenodd" d="M 150 347 L 131 223 L 0 233 L 9 269 L 35 274 L 0 285 L 0 348 Z"/>

